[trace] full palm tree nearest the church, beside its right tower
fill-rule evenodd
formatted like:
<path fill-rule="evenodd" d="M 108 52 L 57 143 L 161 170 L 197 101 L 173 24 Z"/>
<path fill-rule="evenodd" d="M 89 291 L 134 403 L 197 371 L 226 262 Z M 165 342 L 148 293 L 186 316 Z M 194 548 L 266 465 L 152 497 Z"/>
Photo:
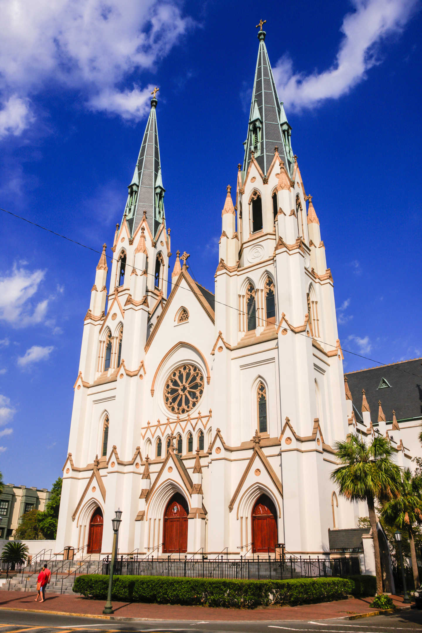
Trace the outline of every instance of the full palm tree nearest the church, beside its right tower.
<path fill-rule="evenodd" d="M 397 495 L 400 468 L 392 461 L 394 449 L 385 437 L 375 437 L 367 444 L 357 433 L 348 436 L 346 441 L 335 442 L 334 448 L 341 465 L 333 470 L 331 479 L 337 484 L 340 494 L 349 501 L 368 503 L 374 542 L 376 592 L 382 594 L 375 501 L 383 501 Z"/>

